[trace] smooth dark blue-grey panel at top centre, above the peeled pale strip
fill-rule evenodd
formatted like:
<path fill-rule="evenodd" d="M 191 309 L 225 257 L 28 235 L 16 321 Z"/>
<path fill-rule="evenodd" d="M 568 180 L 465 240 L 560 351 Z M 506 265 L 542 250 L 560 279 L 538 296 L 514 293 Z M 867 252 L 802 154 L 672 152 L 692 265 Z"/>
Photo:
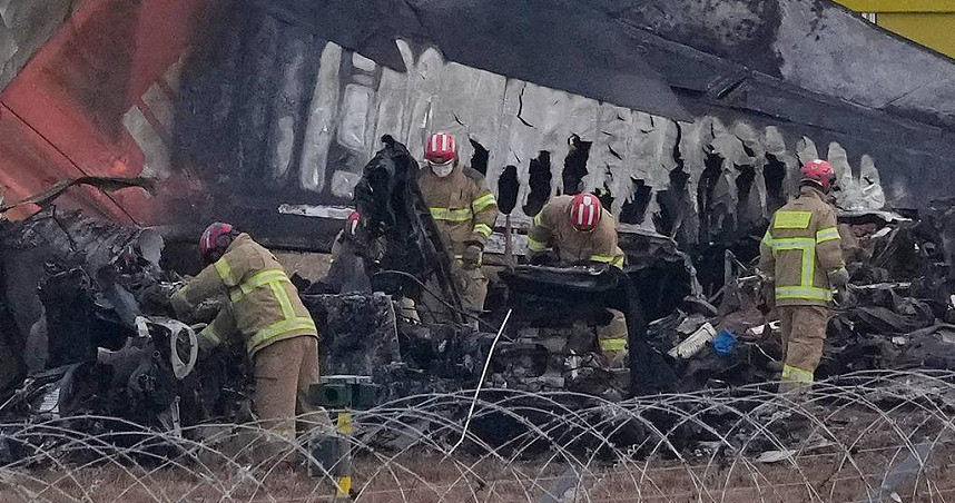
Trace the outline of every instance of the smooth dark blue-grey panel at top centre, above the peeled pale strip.
<path fill-rule="evenodd" d="M 394 40 L 421 40 L 470 67 L 668 117 L 690 117 L 622 26 L 574 0 L 255 3 L 395 69 L 402 58 Z"/>

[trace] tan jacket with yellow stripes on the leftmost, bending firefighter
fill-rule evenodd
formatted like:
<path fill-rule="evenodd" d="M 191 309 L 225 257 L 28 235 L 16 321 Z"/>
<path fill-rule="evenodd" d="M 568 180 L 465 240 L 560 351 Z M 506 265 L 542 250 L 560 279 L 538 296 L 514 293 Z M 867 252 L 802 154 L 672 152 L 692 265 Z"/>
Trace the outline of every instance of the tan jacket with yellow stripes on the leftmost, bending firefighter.
<path fill-rule="evenodd" d="M 303 335 L 318 337 L 315 322 L 282 265 L 247 234 L 240 234 L 223 258 L 177 292 L 173 307 L 184 316 L 203 300 L 224 294 L 229 299 L 227 307 L 199 333 L 204 347 L 239 335 L 253 356 L 278 341 Z"/>

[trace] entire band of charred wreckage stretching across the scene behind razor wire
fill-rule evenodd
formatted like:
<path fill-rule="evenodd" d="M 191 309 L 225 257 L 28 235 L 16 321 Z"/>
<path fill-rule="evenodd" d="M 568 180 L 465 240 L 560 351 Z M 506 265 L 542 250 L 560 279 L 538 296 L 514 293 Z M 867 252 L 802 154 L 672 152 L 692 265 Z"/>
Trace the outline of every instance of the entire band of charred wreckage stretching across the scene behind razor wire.
<path fill-rule="evenodd" d="M 749 266 L 755 257 L 742 251 L 722 254 L 717 268 L 723 280 L 716 287 L 697 280 L 697 270 L 708 278 L 719 276 L 712 273 L 715 266 L 700 259 L 693 264 L 672 239 L 624 235 L 623 273 L 500 268 L 481 329 L 463 317 L 422 322 L 408 313 L 404 300 L 422 295 L 442 295 L 452 312 L 460 307 L 453 288 L 435 293 L 430 289 L 434 284 L 429 286 L 431 275 L 439 278 L 439 288 L 450 284 L 449 262 L 420 195 L 406 184 L 413 162 L 403 146 L 386 141 L 356 191 L 363 215 L 377 233 L 372 235 L 375 246 L 367 247 L 375 251 L 360 250 L 355 260 L 338 264 L 360 266 L 367 282 L 348 288 L 342 283 L 342 290 L 355 290 L 336 293 L 328 278 L 295 278 L 322 327 L 323 374 L 370 381 L 376 403 L 408 407 L 483 384 L 492 389 L 490 397 L 526 406 L 508 427 L 500 414 L 489 413 L 486 421 L 475 423 L 482 442 L 492 445 L 506 445 L 508 438 L 535 424 L 541 411 L 530 404 L 541 396 L 550 396 L 545 402 L 560 410 L 603 414 L 594 421 L 623 435 L 619 442 L 636 446 L 656 435 L 659 442 L 678 443 L 677 451 L 712 442 L 708 425 L 725 417 L 700 412 L 706 416 L 702 424 L 683 427 L 677 416 L 698 414 L 692 411 L 699 403 L 689 401 L 667 413 L 640 414 L 636 422 L 624 417 L 621 423 L 614 420 L 618 412 L 604 405 L 700 389 L 728 389 L 727 396 L 740 401 L 736 411 L 747 414 L 765 402 L 754 397 L 766 393 L 765 384 L 778 375 L 781 351 L 771 314 L 755 308 L 758 285 Z M 909 367 L 955 369 L 955 332 L 949 325 L 955 316 L 953 203 L 939 201 L 922 218 L 874 211 L 841 215 L 854 286 L 838 299 L 820 377 Z M 39 445 L 31 443 L 36 438 L 13 440 L 24 423 L 63 421 L 92 435 L 137 425 L 164 432 L 176 443 L 203 424 L 254 422 L 240 348 L 224 346 L 197 362 L 195 333 L 171 319 L 167 299 L 181 277 L 163 267 L 163 239 L 155 231 L 50 206 L 24 221 L 4 223 L 2 248 L 0 323 L 7 351 L 0 354 L 6 358 L 0 423 L 20 426 L 0 432 L 0 455 L 6 456 L 0 462 L 29 457 L 45 445 L 47 437 L 39 437 Z M 745 244 L 737 251 L 752 248 Z M 608 309 L 626 315 L 627 361 L 611 362 L 599 351 L 595 327 L 607 323 Z M 449 405 L 447 421 L 465 422 L 469 407 L 461 405 Z M 668 432 L 663 438 L 654 433 L 660 427 Z M 756 434 L 748 426 L 742 431 Z M 573 435 L 573 427 L 553 433 Z M 124 438 L 119 435 L 110 442 L 121 444 Z M 385 442 L 384 447 L 395 444 Z"/>

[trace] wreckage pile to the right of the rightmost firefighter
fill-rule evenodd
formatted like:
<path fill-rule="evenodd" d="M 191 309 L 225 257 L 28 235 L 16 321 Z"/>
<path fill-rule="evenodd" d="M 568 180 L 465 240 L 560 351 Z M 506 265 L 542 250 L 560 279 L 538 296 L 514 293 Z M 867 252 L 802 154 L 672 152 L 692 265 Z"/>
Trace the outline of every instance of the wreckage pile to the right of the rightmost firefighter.
<path fill-rule="evenodd" d="M 924 218 L 869 213 L 840 220 L 853 288 L 829 325 L 824 375 L 955 368 L 955 201 Z"/>

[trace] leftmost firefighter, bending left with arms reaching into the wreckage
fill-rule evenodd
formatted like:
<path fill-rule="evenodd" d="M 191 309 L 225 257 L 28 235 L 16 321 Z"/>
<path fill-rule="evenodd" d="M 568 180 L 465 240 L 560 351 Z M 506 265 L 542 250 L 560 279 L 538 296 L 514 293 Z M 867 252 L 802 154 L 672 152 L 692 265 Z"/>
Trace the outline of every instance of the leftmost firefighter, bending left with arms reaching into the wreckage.
<path fill-rule="evenodd" d="M 318 332 L 282 265 L 228 224 L 206 228 L 199 250 L 206 267 L 171 300 L 178 316 L 189 317 L 204 300 L 228 298 L 199 333 L 200 347 L 245 344 L 255 368 L 255 411 L 263 426 L 285 441 L 295 437 L 296 410 L 327 424 L 305 400 L 308 386 L 318 382 Z"/>

